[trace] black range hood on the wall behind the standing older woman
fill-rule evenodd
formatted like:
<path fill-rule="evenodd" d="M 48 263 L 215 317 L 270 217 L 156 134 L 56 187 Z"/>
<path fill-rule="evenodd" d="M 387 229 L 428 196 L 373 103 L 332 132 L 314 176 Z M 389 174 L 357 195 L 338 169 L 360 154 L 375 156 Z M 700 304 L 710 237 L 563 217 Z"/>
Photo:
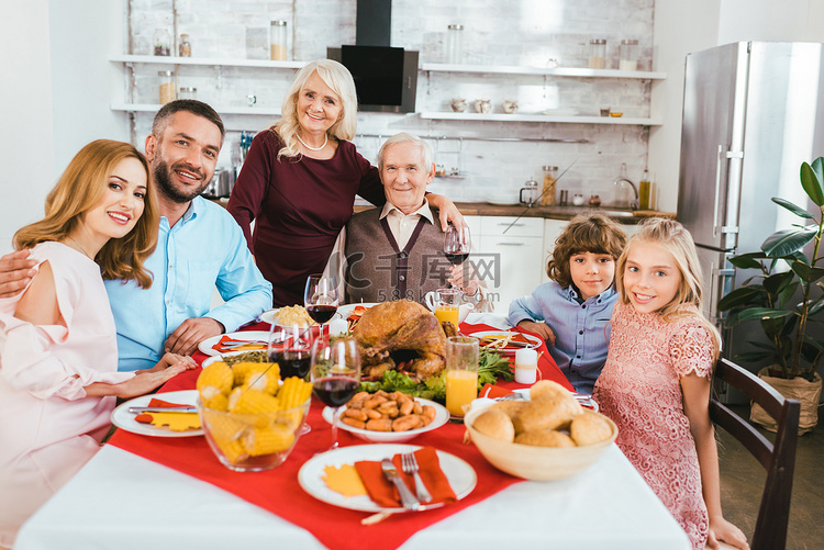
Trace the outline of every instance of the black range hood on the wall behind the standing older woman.
<path fill-rule="evenodd" d="M 358 0 L 355 45 L 326 48 L 352 72 L 359 111 L 415 110 L 419 53 L 389 45 L 391 20 L 391 0 Z"/>

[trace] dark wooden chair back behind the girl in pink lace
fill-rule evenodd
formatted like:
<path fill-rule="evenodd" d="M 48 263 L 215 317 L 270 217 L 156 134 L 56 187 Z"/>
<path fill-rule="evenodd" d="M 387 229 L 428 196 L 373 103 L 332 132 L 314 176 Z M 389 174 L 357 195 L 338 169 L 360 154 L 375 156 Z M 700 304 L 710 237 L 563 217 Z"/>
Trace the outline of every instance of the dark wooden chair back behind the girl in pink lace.
<path fill-rule="evenodd" d="M 787 545 L 787 524 L 790 519 L 800 404 L 795 400 L 784 399 L 758 377 L 726 359 L 719 360 L 714 375 L 761 405 L 778 424 L 776 441 L 771 444 L 715 396 L 710 400 L 712 420 L 741 441 L 767 470 L 767 482 L 750 541 L 751 550 L 782 549 Z"/>

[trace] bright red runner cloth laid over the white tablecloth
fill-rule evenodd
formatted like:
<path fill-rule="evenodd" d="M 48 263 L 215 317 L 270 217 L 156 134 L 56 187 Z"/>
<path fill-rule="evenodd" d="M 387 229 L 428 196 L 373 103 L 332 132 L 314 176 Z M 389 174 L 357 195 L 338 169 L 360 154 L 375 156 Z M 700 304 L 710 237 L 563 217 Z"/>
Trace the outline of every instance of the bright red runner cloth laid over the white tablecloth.
<path fill-rule="evenodd" d="M 266 329 L 266 325 L 255 325 L 248 329 Z M 486 325 L 461 325 L 465 334 L 494 329 Z M 545 352 L 542 357 L 549 359 L 549 363 L 544 361 L 538 366 L 543 377 L 569 385 L 549 353 Z M 197 352 L 194 358 L 201 361 L 205 356 Z M 200 369 L 187 371 L 169 381 L 162 392 L 193 389 L 199 373 Z M 525 388 L 514 382 L 504 385 L 510 389 Z M 465 430 L 461 424 L 446 424 L 437 430 L 419 436 L 410 444 L 432 446 L 469 462 L 478 474 L 478 485 L 472 493 L 443 508 L 396 514 L 377 525 L 363 526 L 360 520 L 368 514 L 316 501 L 298 484 L 300 467 L 316 452 L 326 449 L 332 437 L 331 426 L 321 416 L 322 408 L 320 403 L 313 401 L 308 416 L 312 431 L 301 436 L 283 464 L 266 472 L 238 473 L 224 468 L 202 437 L 155 438 L 118 430 L 109 444 L 229 491 L 303 527 L 324 546 L 334 549 L 398 548 L 416 531 L 522 481 L 494 469 L 474 446 L 464 445 Z M 338 439 L 342 446 L 364 444 L 345 430 L 338 430 Z"/>

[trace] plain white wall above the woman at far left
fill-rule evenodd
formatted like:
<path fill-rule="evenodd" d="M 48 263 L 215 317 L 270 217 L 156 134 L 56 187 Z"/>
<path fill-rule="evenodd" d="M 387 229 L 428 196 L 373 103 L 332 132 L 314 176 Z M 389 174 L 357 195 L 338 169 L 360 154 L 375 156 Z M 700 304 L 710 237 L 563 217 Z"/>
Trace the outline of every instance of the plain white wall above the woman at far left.
<path fill-rule="evenodd" d="M 124 3 L 116 0 L 4 2 L 0 18 L 0 254 L 21 226 L 43 216 L 68 161 L 100 137 L 129 139 L 109 109 L 122 71 Z M 113 88 L 116 87 L 116 88 Z"/>

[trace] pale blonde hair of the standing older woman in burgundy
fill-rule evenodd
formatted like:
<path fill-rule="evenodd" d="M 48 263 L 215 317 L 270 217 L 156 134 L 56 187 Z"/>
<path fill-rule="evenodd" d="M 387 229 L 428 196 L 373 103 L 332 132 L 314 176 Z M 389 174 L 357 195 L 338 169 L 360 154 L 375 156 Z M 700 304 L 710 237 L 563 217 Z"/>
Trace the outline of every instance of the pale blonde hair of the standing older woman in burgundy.
<path fill-rule="evenodd" d="M 294 80 L 289 90 L 287 90 L 286 98 L 283 99 L 283 106 L 280 110 L 281 117 L 270 128 L 283 141 L 283 147 L 278 151 L 278 159 L 280 157 L 297 157 L 300 154 L 300 146 L 297 138 L 298 131 L 300 130 L 298 99 L 300 91 L 313 72 L 318 72 L 321 80 L 341 98 L 341 116 L 326 133 L 330 137 L 338 141 L 349 141 L 355 137 L 358 123 L 358 97 L 355 91 L 355 80 L 353 80 L 352 74 L 346 67 L 332 59 L 315 59 L 314 61 L 309 61 L 294 76 Z"/>

